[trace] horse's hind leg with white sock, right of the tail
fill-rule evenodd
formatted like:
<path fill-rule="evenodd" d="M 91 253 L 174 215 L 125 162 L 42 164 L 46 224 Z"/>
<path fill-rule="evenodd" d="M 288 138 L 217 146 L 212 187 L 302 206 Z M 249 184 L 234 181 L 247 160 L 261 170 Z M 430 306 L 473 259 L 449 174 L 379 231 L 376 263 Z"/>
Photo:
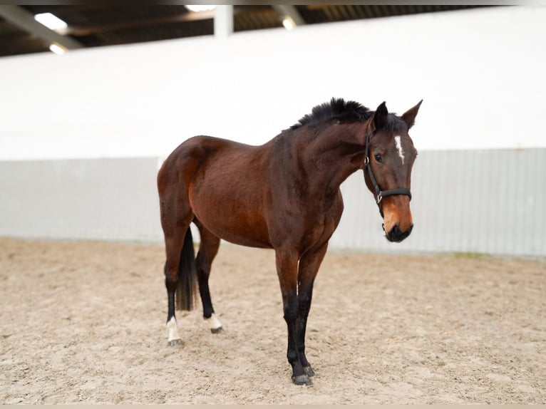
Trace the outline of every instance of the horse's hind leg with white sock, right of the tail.
<path fill-rule="evenodd" d="M 215 315 L 215 309 L 212 306 L 209 289 L 209 276 L 212 260 L 215 259 L 220 247 L 220 238 L 208 231 L 197 219 L 194 220 L 199 229 L 201 242 L 199 252 L 197 252 L 196 267 L 197 281 L 199 282 L 199 294 L 203 305 L 203 318 L 209 324 L 212 333 L 223 331 L 222 323 Z"/>

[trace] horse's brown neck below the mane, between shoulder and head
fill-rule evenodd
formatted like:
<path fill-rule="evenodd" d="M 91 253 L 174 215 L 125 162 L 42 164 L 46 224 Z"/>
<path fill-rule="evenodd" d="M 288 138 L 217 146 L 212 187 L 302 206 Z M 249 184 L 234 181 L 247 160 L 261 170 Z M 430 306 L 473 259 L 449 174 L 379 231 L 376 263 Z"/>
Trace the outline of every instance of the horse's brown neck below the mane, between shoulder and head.
<path fill-rule="evenodd" d="M 362 169 L 367 125 L 336 123 L 318 135 L 307 135 L 302 160 L 307 172 L 316 176 L 317 189 L 336 191 L 349 175 Z"/>

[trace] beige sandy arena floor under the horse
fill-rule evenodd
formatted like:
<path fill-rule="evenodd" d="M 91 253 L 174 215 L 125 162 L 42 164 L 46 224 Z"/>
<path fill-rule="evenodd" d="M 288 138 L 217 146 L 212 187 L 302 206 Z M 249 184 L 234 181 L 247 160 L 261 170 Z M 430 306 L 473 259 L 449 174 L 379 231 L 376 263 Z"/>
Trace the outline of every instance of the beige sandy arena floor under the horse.
<path fill-rule="evenodd" d="M 167 346 L 163 247 L 0 239 L 0 403 L 546 403 L 546 264 L 330 252 L 292 385 L 269 250 L 223 246 Z M 183 316 L 182 316 L 183 315 Z"/>

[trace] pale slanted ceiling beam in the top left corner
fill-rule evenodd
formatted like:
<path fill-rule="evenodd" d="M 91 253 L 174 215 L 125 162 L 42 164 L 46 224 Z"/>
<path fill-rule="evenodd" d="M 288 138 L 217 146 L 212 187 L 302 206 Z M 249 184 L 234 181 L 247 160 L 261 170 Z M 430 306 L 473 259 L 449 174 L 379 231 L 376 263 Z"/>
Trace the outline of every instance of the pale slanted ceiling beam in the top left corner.
<path fill-rule="evenodd" d="M 20 6 L 14 5 L 0 5 L 0 16 L 11 24 L 20 27 L 21 29 L 28 31 L 34 36 L 41 38 L 49 46 L 53 43 L 58 44 L 66 48 L 67 50 L 73 50 L 76 48 L 83 48 L 83 44 L 74 40 L 68 36 L 61 36 L 61 34 L 48 29 L 43 24 L 34 20 L 34 15 L 29 13 Z"/>

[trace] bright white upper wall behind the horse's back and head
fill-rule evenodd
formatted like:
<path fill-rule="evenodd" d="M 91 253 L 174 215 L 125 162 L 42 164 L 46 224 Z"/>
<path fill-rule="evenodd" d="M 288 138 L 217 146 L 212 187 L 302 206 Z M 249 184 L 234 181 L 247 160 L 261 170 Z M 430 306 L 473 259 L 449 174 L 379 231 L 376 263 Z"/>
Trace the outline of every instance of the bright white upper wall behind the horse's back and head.
<path fill-rule="evenodd" d="M 546 7 L 497 7 L 0 58 L 0 160 L 259 144 L 332 96 L 402 113 L 419 150 L 545 147 Z"/>

